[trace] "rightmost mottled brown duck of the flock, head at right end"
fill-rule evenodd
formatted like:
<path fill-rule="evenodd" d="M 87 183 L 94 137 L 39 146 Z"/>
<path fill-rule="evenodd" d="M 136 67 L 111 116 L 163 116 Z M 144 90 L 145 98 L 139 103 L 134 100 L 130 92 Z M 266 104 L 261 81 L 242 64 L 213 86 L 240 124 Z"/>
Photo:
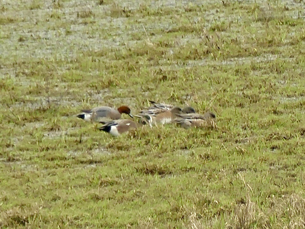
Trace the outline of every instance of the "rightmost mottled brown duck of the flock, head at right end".
<path fill-rule="evenodd" d="M 211 111 L 207 111 L 203 115 L 197 113 L 177 114 L 178 118 L 173 120 L 173 123 L 188 129 L 189 127 L 212 127 L 217 128 L 214 118 L 216 115 Z"/>

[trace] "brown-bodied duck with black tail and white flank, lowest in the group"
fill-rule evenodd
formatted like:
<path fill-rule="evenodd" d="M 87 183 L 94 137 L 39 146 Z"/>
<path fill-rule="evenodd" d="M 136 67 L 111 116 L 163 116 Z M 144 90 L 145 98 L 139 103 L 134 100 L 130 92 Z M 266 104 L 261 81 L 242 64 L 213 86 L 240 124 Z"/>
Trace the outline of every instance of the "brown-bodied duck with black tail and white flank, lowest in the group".
<path fill-rule="evenodd" d="M 118 119 L 111 122 L 106 122 L 99 129 L 110 133 L 113 136 L 119 136 L 122 133 L 128 132 L 131 129 L 136 129 L 139 124 L 130 119 Z"/>

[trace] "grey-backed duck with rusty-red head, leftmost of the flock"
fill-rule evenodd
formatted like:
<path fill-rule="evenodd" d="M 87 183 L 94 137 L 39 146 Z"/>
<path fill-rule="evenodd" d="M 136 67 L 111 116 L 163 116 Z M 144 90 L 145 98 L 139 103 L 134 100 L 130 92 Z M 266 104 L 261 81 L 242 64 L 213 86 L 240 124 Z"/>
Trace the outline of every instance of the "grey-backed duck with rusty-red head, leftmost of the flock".
<path fill-rule="evenodd" d="M 95 107 L 91 110 L 82 110 L 82 113 L 77 115 L 76 117 L 84 119 L 85 121 L 109 122 L 111 120 L 120 119 L 123 113 L 133 118 L 133 115 L 131 115 L 130 108 L 125 105 L 120 106 L 117 109 L 103 106 L 103 107 Z"/>

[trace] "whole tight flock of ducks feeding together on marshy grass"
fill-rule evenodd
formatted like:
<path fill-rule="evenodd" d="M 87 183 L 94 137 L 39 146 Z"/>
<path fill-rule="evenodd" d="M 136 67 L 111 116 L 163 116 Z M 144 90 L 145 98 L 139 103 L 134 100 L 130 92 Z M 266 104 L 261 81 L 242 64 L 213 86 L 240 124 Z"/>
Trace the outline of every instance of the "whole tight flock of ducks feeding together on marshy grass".
<path fill-rule="evenodd" d="M 196 113 L 193 107 L 175 107 L 170 104 L 156 103 L 149 101 L 150 107 L 140 111 L 137 115 L 138 122 L 131 119 L 121 119 L 121 115 L 127 114 L 131 118 L 131 110 L 127 106 L 121 106 L 117 109 L 112 107 L 95 107 L 91 110 L 82 110 L 82 113 L 77 115 L 78 118 L 90 122 L 99 122 L 103 125 L 99 128 L 102 131 L 110 133 L 113 136 L 119 136 L 122 133 L 127 133 L 131 129 L 136 129 L 141 125 L 153 125 L 174 123 L 185 129 L 190 127 L 216 128 L 215 114 L 210 111 L 204 114 Z"/>

